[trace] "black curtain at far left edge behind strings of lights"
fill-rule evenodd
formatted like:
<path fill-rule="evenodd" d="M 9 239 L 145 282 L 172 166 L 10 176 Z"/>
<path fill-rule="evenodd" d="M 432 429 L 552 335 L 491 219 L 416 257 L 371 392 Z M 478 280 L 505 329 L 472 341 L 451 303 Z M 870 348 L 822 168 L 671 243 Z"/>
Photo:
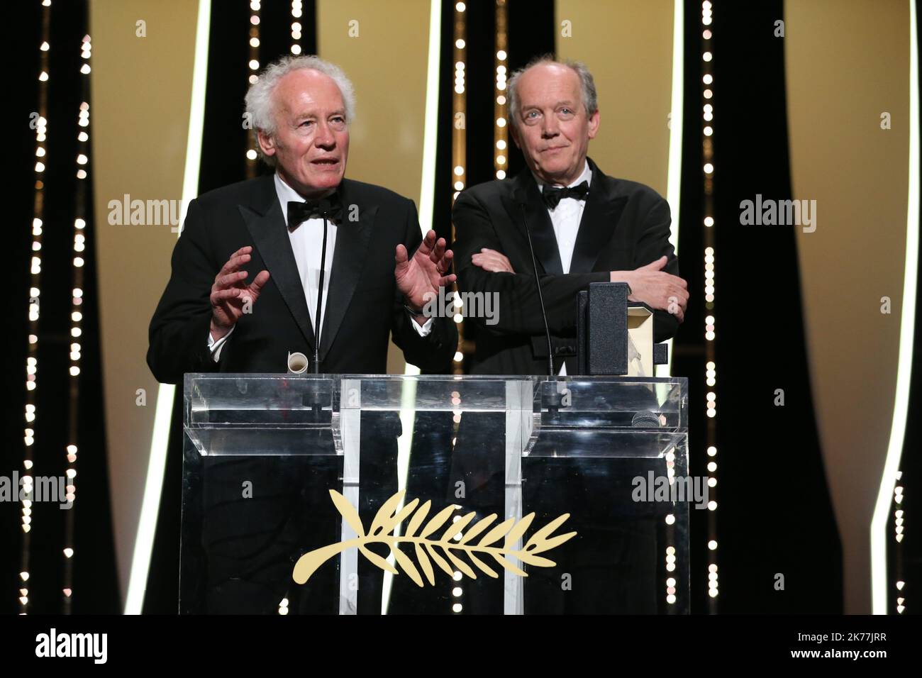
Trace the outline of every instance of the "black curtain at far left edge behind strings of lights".
<path fill-rule="evenodd" d="M 2 333 L 6 359 L 3 361 L 6 398 L 3 413 L 5 445 L 0 450 L 0 475 L 21 478 L 23 467 L 23 430 L 35 430 L 30 470 L 34 477 L 63 476 L 67 466 L 65 447 L 68 421 L 68 392 L 72 377 L 68 374 L 70 311 L 73 271 L 73 232 L 78 188 L 86 191 L 84 233 L 83 318 L 77 420 L 77 499 L 74 507 L 74 548 L 72 613 L 117 613 L 118 578 L 112 537 L 112 510 L 109 502 L 109 473 L 106 463 L 105 418 L 103 415 L 100 369 L 99 291 L 96 278 L 96 229 L 93 214 L 93 163 L 85 166 L 88 178 L 77 179 L 77 134 L 89 133 L 93 142 L 93 105 L 89 101 L 90 125 L 77 125 L 83 81 L 80 45 L 89 31 L 88 4 L 83 1 L 54 3 L 51 7 L 48 52 L 49 80 L 47 139 L 41 144 L 47 154 L 41 158 L 45 170 L 44 214 L 41 241 L 41 294 L 39 315 L 39 352 L 35 422 L 24 419 L 26 401 L 26 357 L 28 355 L 28 318 L 30 299 L 30 260 L 32 256 L 33 196 L 37 174 L 35 129 L 30 126 L 38 113 L 39 45 L 42 41 L 41 3 L 23 3 L 17 7 L 16 30 L 9 31 L 9 54 L 16 54 L 15 66 L 9 69 L 16 96 L 9 97 L 10 120 L 16 130 L 16 143 L 8 158 L 13 172 L 7 175 L 6 256 L 7 311 Z M 11 18 L 11 21 L 13 19 Z M 90 59 L 90 64 L 92 60 Z M 90 75 L 89 77 L 92 77 Z M 104 218 L 104 217 L 103 217 Z M 29 589 L 32 614 L 57 614 L 65 610 L 65 519 L 66 511 L 51 502 L 33 502 L 30 531 L 30 579 L 19 577 L 23 531 L 21 507 L 17 501 L 0 504 L 0 613 L 18 613 L 18 589 Z"/>

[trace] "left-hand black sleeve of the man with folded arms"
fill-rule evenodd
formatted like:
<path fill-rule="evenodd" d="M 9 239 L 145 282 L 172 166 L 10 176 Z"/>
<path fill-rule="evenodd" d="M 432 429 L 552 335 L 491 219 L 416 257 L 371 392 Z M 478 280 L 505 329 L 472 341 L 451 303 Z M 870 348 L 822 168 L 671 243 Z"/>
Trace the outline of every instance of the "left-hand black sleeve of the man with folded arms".
<path fill-rule="evenodd" d="M 487 209 L 469 193 L 457 196 L 452 219 L 457 237 L 454 250 L 458 288 L 495 294 L 493 298 L 499 308 L 496 324 L 486 325 L 479 320 L 479 329 L 496 334 L 544 334 L 531 261 L 528 260 L 527 270 L 516 273 L 491 273 L 471 262 L 471 256 L 481 248 L 502 252 L 502 244 Z M 610 274 L 608 271 L 560 276 L 543 274 L 539 278 L 550 333 L 565 335 L 576 327 L 576 293 L 588 288 L 590 282 L 608 282 Z"/>

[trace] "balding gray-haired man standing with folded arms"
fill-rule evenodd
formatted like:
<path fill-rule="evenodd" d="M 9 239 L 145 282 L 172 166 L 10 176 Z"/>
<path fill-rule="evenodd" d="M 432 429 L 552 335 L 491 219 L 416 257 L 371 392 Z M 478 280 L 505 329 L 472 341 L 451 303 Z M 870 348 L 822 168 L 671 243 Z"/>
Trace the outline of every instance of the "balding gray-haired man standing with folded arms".
<path fill-rule="evenodd" d="M 561 374 L 575 374 L 576 296 L 591 282 L 627 282 L 654 309 L 654 339 L 673 336 L 688 303 L 669 244 L 669 206 L 649 186 L 615 179 L 587 158 L 599 125 L 585 65 L 542 56 L 509 79 L 510 121 L 527 170 L 455 200 L 462 291 L 496 292 L 498 322 L 479 324 L 472 374 L 543 375 L 547 341 L 526 232 Z M 475 318 L 475 322 L 477 319 Z M 573 347 L 569 350 L 568 347 Z"/>

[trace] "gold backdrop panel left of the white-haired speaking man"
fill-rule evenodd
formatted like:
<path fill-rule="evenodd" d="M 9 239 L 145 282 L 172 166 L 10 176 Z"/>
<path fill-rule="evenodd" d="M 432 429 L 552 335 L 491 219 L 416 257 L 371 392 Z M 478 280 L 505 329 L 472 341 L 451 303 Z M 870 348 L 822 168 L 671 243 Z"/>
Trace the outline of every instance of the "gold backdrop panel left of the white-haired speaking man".
<path fill-rule="evenodd" d="M 109 201 L 182 197 L 197 15 L 198 3 L 188 0 L 89 6 L 100 348 L 123 599 L 157 406 L 158 384 L 146 362 L 148 324 L 170 276 L 177 234 L 170 225 L 111 225 Z M 145 37 L 137 35 L 138 21 Z"/>

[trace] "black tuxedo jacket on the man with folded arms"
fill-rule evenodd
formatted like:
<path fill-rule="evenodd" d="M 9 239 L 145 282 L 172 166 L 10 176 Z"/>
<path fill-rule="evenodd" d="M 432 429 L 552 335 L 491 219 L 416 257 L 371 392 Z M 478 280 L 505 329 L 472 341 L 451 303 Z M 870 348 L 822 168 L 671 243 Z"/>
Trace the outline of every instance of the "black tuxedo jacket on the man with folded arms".
<path fill-rule="evenodd" d="M 472 186 L 457 196 L 452 219 L 458 288 L 496 292 L 499 303 L 495 325 L 473 319 L 478 324 L 473 374 L 545 375 L 548 371 L 547 340 L 520 205 L 525 206 L 535 246 L 555 352 L 574 348 L 576 294 L 590 282 L 608 282 L 610 271 L 633 270 L 663 255 L 668 256 L 663 270 L 679 275 L 679 260 L 668 242 L 666 200 L 649 186 L 606 175 L 591 160 L 589 166 L 592 182 L 566 275 L 548 209 L 530 171 Z M 502 252 L 515 273 L 489 273 L 472 264 L 471 256 L 483 247 Z M 672 337 L 677 327 L 675 315 L 654 312 L 655 341 Z M 555 359 L 555 369 L 560 364 L 560 358 Z M 576 359 L 568 357 L 566 364 L 567 374 L 575 375 Z"/>

